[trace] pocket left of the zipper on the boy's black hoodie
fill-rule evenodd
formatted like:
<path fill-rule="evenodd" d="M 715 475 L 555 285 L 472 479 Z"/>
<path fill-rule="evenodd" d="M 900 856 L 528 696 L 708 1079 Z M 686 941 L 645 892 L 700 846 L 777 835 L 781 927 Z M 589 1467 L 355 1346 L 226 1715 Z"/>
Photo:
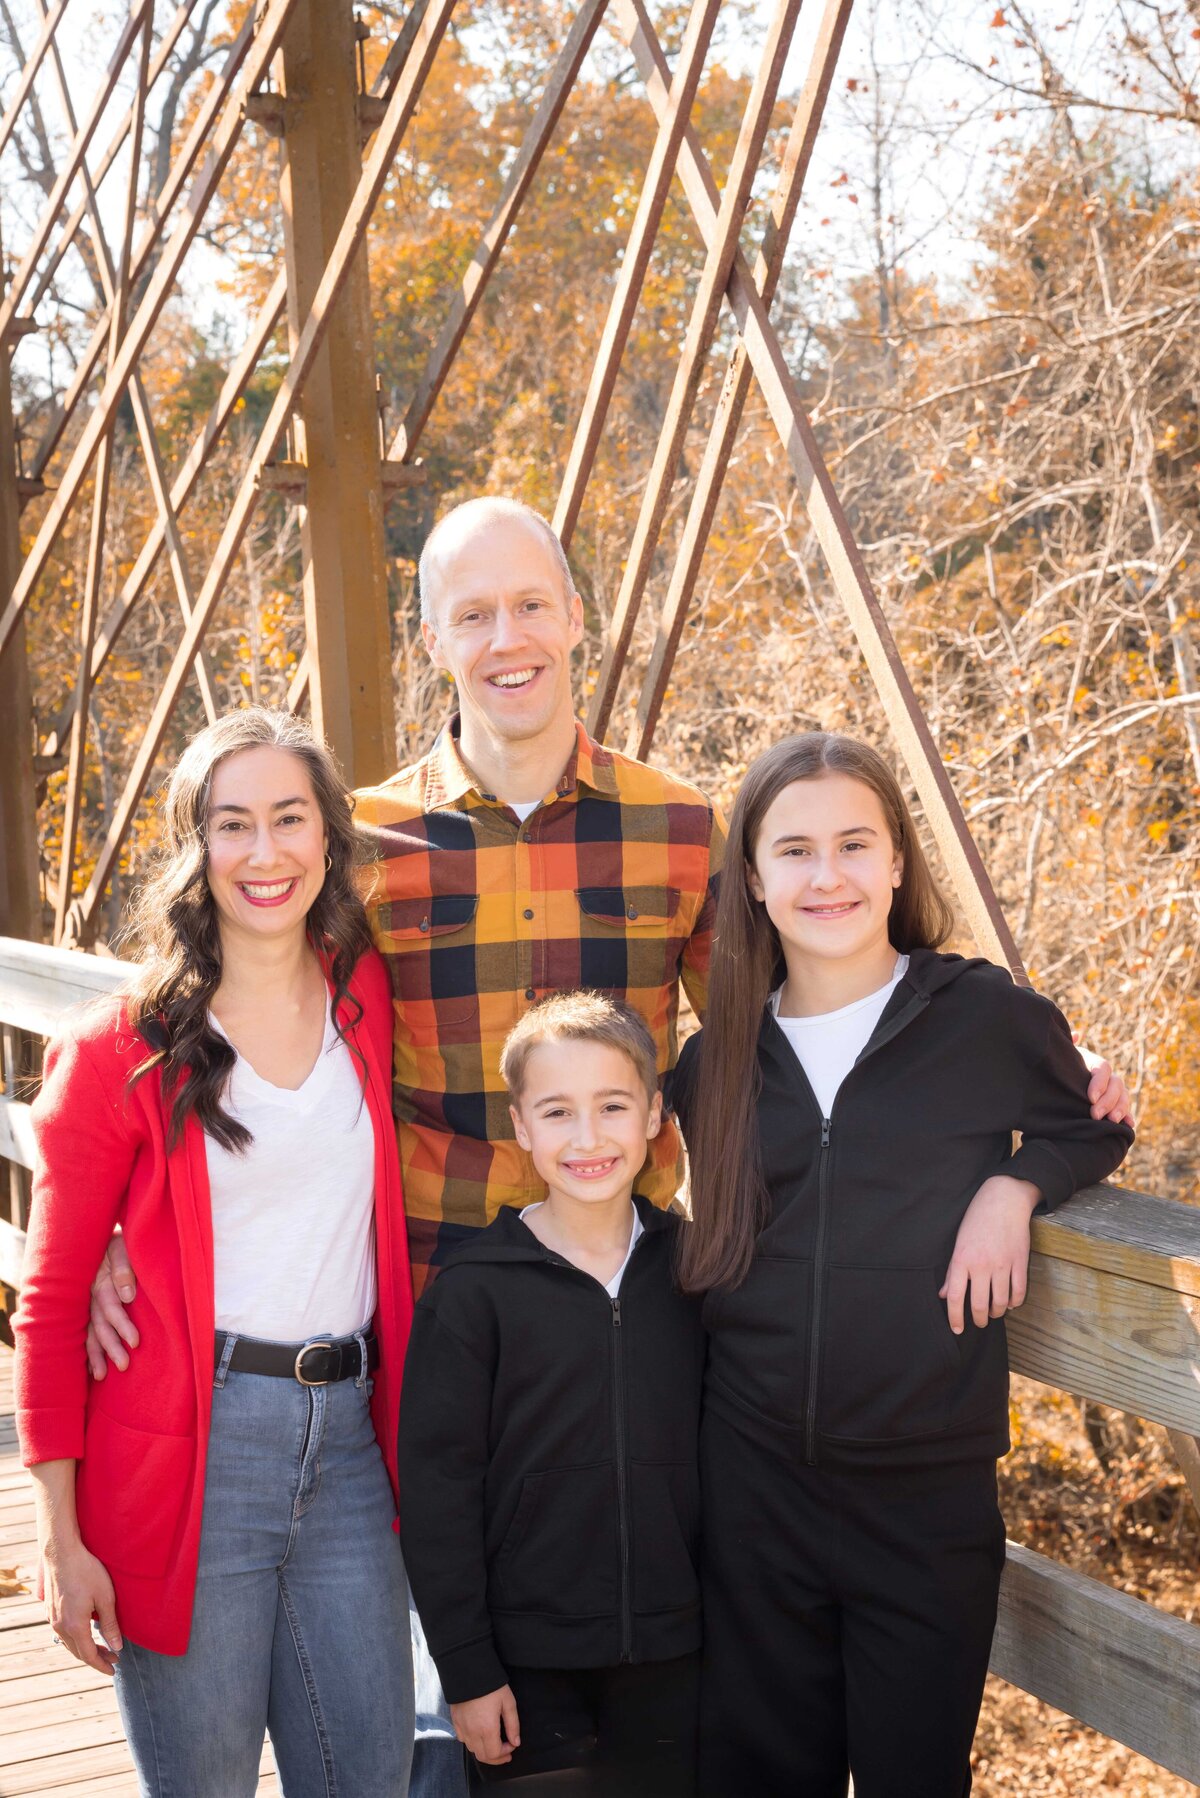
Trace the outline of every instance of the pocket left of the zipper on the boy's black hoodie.
<path fill-rule="evenodd" d="M 619 1602 L 612 1462 L 529 1473 L 493 1566 L 495 1609 L 604 1616 Z"/>

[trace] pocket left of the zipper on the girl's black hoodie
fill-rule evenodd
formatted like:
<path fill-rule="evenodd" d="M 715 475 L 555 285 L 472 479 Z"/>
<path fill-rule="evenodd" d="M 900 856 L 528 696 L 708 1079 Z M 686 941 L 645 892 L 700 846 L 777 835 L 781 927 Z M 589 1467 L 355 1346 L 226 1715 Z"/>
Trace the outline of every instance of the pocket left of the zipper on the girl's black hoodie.
<path fill-rule="evenodd" d="M 804 1420 L 813 1264 L 756 1255 L 741 1286 L 703 1304 L 709 1381 L 788 1429 Z"/>

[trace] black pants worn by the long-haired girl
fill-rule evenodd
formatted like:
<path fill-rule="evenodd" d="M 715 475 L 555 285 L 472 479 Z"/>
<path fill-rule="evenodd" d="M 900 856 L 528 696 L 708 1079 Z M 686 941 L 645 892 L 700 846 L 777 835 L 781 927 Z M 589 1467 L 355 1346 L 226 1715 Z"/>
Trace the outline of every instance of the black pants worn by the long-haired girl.
<path fill-rule="evenodd" d="M 964 1798 L 995 1465 L 826 1473 L 707 1417 L 700 1478 L 703 1798 Z"/>

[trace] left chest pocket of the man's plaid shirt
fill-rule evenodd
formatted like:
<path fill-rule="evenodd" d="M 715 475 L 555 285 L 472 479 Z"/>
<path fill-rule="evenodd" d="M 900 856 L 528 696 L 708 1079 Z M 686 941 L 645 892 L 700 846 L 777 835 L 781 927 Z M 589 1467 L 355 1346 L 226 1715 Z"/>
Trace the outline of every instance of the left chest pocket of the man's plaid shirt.
<path fill-rule="evenodd" d="M 378 908 L 380 948 L 412 1036 L 435 1039 L 448 1025 L 475 1023 L 475 913 L 479 894 L 419 894 Z"/>

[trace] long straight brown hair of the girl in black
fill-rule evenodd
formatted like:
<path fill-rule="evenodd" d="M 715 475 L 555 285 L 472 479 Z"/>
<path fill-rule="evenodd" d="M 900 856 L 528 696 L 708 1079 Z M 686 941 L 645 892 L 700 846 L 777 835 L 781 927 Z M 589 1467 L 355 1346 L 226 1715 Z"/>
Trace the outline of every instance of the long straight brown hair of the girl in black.
<path fill-rule="evenodd" d="M 682 1232 L 678 1268 L 687 1293 L 739 1286 L 766 1221 L 756 1117 L 757 1039 L 763 1007 L 783 980 L 783 948 L 766 906 L 750 892 L 747 872 L 763 818 L 783 789 L 833 773 L 871 788 L 901 856 L 901 879 L 887 921 L 892 946 L 905 953 L 937 949 L 954 928 L 954 912 L 930 874 L 900 782 L 876 750 L 855 737 L 813 730 L 784 737 L 750 764 L 729 823 L 703 1052 L 687 1102 L 693 1223 Z"/>

